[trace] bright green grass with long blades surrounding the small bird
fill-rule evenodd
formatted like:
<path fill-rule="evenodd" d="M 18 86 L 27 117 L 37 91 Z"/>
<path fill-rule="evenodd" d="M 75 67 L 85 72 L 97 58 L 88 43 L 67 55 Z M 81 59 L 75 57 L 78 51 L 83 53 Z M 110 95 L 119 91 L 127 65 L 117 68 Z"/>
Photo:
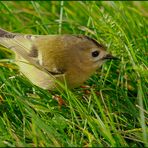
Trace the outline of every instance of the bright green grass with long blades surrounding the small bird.
<path fill-rule="evenodd" d="M 28 34 L 85 34 L 121 61 L 89 88 L 48 92 L 22 76 L 0 48 L 0 146 L 148 146 L 147 2 L 0 2 L 0 27 Z M 54 94 L 66 106 L 59 108 Z"/>

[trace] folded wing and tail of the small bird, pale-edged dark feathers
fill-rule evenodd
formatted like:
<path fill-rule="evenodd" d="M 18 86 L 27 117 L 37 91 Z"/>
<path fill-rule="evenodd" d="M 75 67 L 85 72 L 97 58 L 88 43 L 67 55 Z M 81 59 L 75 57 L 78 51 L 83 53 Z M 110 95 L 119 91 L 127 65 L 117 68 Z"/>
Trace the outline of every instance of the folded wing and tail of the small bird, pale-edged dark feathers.
<path fill-rule="evenodd" d="M 23 35 L 7 32 L 3 29 L 0 29 L 0 44 L 6 48 L 9 48 L 20 55 L 22 58 L 27 60 L 30 64 L 36 66 L 37 68 L 46 71 L 52 75 L 59 75 L 61 72 L 49 71 L 43 67 L 40 63 L 40 57 L 37 54 L 33 47 L 33 42 L 43 35 Z M 55 68 L 56 69 L 56 68 Z"/>

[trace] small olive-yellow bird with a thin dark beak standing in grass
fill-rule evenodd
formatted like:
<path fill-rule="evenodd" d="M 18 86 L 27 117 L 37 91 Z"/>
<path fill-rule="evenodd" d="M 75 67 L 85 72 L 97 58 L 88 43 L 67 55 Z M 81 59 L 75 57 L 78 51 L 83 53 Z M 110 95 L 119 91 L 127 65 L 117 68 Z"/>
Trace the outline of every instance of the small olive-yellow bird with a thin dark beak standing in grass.
<path fill-rule="evenodd" d="M 84 35 L 24 35 L 0 29 L 0 44 L 15 52 L 15 63 L 34 85 L 54 90 L 85 82 L 106 60 L 115 59 Z"/>

